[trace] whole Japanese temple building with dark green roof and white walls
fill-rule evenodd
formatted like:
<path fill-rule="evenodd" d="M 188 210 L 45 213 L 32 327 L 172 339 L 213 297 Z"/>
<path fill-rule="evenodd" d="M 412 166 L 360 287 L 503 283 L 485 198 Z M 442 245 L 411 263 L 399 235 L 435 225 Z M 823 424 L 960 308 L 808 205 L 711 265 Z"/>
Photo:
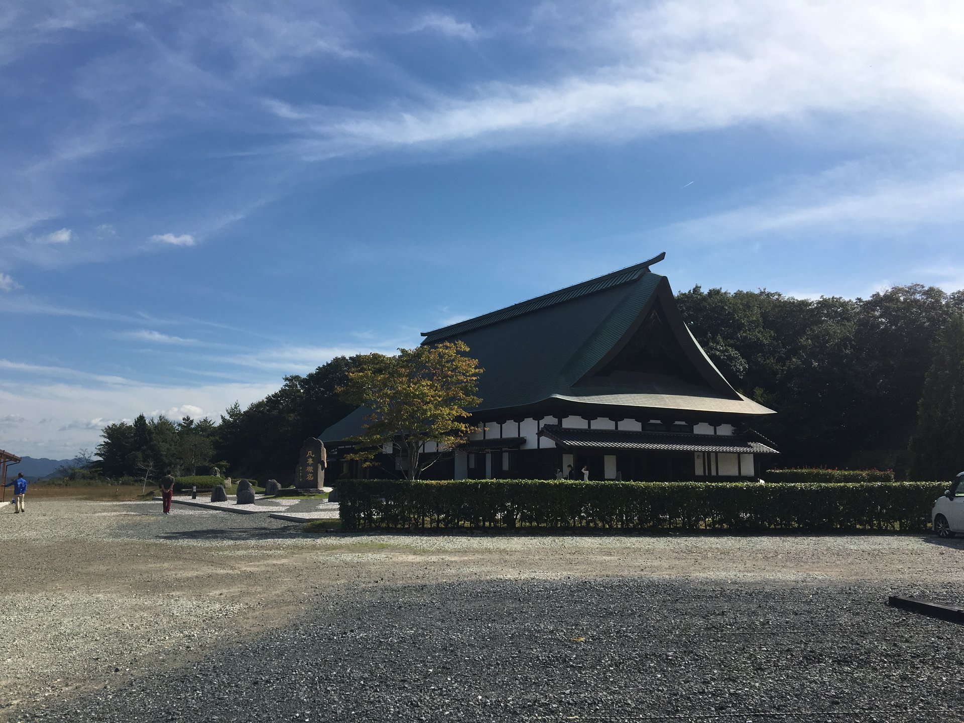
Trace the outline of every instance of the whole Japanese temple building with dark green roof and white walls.
<path fill-rule="evenodd" d="M 664 256 L 423 333 L 461 339 L 485 369 L 469 442 L 423 476 L 549 479 L 572 465 L 595 480 L 759 477 L 777 452 L 750 425 L 774 412 L 731 387 L 689 333 L 650 268 Z M 332 471 L 359 473 L 338 460 L 366 413 L 320 436 Z M 389 451 L 379 476 L 405 469 Z"/>

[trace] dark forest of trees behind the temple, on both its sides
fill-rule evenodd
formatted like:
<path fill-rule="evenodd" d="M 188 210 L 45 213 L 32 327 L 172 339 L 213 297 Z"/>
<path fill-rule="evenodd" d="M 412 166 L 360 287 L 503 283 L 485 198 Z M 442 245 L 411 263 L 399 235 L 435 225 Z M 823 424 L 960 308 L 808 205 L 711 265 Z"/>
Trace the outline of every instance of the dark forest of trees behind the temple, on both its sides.
<path fill-rule="evenodd" d="M 808 300 L 697 286 L 677 300 L 731 384 L 779 413 L 755 427 L 778 444 L 781 467 L 902 477 L 913 464 L 918 478 L 964 469 L 964 292 L 912 284 L 868 299 Z M 285 377 L 275 393 L 218 420 L 112 424 L 96 450 L 100 471 L 149 478 L 219 464 L 235 477 L 287 479 L 304 439 L 351 411 L 335 388 L 353 363 L 338 357 Z"/>

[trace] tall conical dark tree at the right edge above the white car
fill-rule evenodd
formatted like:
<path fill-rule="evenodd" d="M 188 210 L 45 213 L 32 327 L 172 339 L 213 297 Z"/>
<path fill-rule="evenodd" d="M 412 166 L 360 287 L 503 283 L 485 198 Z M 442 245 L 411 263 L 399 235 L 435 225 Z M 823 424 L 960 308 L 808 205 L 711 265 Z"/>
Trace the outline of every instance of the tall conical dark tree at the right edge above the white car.
<path fill-rule="evenodd" d="M 910 441 L 913 479 L 951 479 L 964 469 L 964 315 L 938 337 Z"/>

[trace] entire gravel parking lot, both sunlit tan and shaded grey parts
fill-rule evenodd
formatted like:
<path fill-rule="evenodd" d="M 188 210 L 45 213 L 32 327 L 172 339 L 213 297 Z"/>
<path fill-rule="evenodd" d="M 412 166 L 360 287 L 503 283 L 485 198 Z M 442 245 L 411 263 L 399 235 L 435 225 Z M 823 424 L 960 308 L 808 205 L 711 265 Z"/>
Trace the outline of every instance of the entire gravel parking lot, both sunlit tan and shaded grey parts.
<path fill-rule="evenodd" d="M 10 720 L 962 720 L 961 544 L 3 516 Z M 27 716 L 30 716 L 29 718 Z"/>

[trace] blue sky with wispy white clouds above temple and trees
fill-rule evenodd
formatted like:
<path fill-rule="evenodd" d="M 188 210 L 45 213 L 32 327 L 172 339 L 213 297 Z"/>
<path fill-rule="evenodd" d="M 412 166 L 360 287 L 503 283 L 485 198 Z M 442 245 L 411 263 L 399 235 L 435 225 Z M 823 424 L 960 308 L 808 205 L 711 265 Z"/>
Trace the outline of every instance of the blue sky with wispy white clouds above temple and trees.
<path fill-rule="evenodd" d="M 962 67 L 958 0 L 7 0 L 0 448 L 659 252 L 676 290 L 961 288 Z"/>

